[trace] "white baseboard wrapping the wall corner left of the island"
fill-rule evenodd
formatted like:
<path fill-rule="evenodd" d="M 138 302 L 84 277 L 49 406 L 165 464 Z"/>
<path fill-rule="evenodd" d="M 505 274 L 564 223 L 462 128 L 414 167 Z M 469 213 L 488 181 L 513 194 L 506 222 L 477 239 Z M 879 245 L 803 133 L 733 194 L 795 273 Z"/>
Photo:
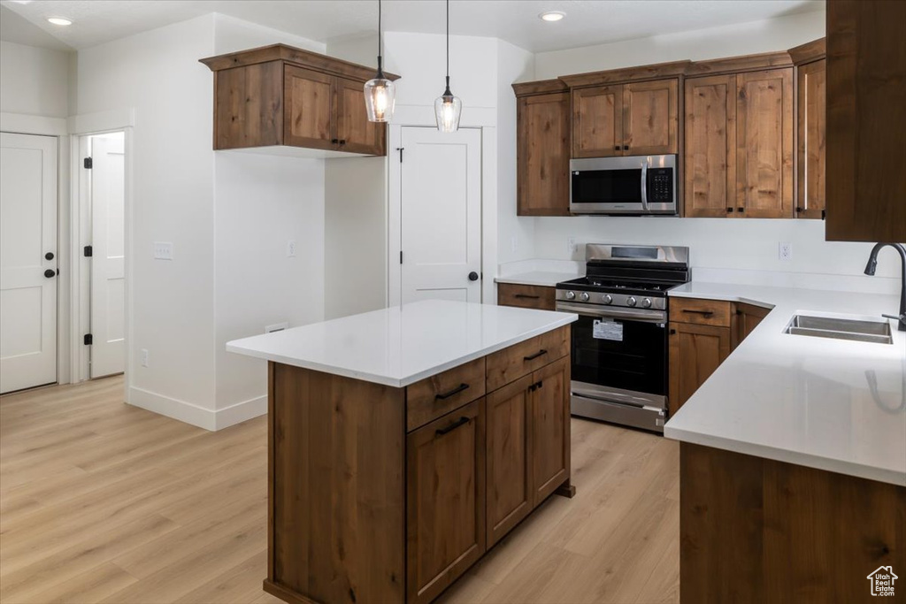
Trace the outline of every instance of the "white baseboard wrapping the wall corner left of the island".
<path fill-rule="evenodd" d="M 235 405 L 215 410 L 198 407 L 198 405 L 193 405 L 185 400 L 165 397 L 156 392 L 133 386 L 129 389 L 129 400 L 127 402 L 134 407 L 141 407 L 162 416 L 172 417 L 192 426 L 205 428 L 211 432 L 235 426 L 246 421 L 246 419 L 263 416 L 267 413 L 267 397 L 265 396 L 250 398 Z"/>

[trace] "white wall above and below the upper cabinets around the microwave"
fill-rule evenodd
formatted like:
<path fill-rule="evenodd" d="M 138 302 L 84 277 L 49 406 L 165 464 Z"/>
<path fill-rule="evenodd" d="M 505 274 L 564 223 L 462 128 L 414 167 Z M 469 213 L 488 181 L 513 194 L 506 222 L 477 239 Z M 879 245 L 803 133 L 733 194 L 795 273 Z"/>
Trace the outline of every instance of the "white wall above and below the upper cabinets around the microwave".
<path fill-rule="evenodd" d="M 823 35 L 824 12 L 816 12 L 698 32 L 538 53 L 535 55 L 535 79 L 654 62 L 781 51 Z M 502 244 L 514 232 L 515 229 L 506 229 L 501 223 Z M 568 252 L 569 237 L 574 237 L 579 244 L 575 254 Z M 878 285 L 877 281 L 866 282 L 869 278 L 860 276 L 870 244 L 825 242 L 822 221 L 607 216 L 535 218 L 535 256 L 538 258 L 582 261 L 583 244 L 588 242 L 688 245 L 694 267 L 852 275 L 859 278 L 847 283 L 872 288 Z M 780 242 L 793 244 L 791 262 L 777 259 Z M 879 264 L 878 275 L 895 277 L 897 264 L 892 260 L 883 260 Z M 757 279 L 757 274 L 752 273 L 752 278 Z M 892 290 L 896 283 L 891 281 L 883 287 Z"/>

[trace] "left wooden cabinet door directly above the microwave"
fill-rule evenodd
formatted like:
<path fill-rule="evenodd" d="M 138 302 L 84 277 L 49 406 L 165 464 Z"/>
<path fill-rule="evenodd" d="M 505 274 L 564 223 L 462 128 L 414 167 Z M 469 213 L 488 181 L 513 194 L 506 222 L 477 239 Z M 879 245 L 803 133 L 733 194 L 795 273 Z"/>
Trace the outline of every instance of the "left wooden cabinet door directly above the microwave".
<path fill-rule="evenodd" d="M 622 155 L 622 84 L 573 91 L 573 158 Z"/>

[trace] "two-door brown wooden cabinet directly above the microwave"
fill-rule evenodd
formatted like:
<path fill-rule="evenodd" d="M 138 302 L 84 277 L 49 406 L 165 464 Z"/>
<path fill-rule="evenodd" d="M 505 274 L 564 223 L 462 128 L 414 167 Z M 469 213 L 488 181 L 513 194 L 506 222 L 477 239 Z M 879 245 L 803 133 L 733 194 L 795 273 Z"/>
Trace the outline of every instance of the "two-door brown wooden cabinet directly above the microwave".
<path fill-rule="evenodd" d="M 573 91 L 573 158 L 679 152 L 679 81 Z"/>

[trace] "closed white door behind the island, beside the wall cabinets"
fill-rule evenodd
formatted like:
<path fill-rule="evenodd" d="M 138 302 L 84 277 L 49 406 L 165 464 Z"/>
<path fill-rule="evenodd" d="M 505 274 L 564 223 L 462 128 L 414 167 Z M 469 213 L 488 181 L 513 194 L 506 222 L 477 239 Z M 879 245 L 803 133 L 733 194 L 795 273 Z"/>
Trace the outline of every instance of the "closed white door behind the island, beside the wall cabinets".
<path fill-rule="evenodd" d="M 403 128 L 402 303 L 481 302 L 481 130 Z"/>

